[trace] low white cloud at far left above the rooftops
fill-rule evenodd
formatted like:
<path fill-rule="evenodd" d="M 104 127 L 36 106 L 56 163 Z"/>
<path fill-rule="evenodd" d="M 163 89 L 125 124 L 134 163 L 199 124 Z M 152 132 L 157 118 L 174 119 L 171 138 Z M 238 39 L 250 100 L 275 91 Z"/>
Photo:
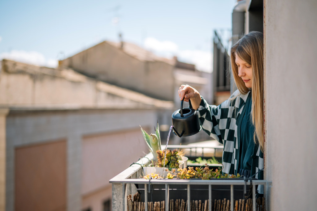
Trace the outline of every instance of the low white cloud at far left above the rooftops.
<path fill-rule="evenodd" d="M 57 67 L 57 59 L 45 59 L 42 53 L 36 51 L 12 50 L 0 54 L 0 59 L 10 59 L 18 62 L 23 62 L 31 65 Z"/>

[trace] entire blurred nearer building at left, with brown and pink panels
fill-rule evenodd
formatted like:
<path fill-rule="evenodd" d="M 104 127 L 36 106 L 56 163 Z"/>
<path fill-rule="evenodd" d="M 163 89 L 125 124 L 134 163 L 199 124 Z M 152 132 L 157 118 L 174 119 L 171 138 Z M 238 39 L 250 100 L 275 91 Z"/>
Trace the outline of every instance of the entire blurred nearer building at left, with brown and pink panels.
<path fill-rule="evenodd" d="M 107 210 L 109 179 L 149 152 L 172 101 L 74 70 L 2 60 L 0 210 Z"/>

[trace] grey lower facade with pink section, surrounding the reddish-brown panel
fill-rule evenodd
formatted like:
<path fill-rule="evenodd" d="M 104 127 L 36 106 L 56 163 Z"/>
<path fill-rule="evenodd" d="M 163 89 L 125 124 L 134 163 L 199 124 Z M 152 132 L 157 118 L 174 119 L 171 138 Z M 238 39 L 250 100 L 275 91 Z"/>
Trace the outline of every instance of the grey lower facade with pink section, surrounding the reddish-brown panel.
<path fill-rule="evenodd" d="M 21 158 L 17 150 L 21 147 L 66 140 L 66 208 L 96 208 L 99 200 L 102 204 L 111 195 L 109 178 L 149 152 L 139 125 L 153 128 L 156 121 L 157 111 L 144 109 L 11 110 L 6 118 L 6 210 L 15 210 L 16 188 L 21 187 L 16 186 L 20 174 L 16 162 Z M 121 160 L 113 158 L 114 152 Z"/>

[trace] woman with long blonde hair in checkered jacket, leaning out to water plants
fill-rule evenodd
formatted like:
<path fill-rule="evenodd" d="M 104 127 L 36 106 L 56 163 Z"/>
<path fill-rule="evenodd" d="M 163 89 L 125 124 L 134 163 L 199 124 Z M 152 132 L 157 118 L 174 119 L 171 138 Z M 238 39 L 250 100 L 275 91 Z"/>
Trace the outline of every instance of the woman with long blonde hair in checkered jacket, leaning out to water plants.
<path fill-rule="evenodd" d="M 178 94 L 191 100 L 203 130 L 224 145 L 223 173 L 263 179 L 263 34 L 244 35 L 230 54 L 238 90 L 228 100 L 208 105 L 189 85 Z"/>

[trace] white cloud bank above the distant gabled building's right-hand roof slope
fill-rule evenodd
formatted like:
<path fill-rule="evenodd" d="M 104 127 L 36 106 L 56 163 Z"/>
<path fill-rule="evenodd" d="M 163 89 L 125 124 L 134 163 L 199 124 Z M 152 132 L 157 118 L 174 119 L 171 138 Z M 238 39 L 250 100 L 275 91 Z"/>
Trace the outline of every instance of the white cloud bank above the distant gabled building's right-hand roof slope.
<path fill-rule="evenodd" d="M 177 56 L 178 60 L 196 65 L 200 71 L 212 71 L 212 54 L 201 50 L 179 50 L 178 46 L 171 41 L 159 41 L 153 37 L 146 38 L 144 47 L 153 53 L 166 58 Z"/>

